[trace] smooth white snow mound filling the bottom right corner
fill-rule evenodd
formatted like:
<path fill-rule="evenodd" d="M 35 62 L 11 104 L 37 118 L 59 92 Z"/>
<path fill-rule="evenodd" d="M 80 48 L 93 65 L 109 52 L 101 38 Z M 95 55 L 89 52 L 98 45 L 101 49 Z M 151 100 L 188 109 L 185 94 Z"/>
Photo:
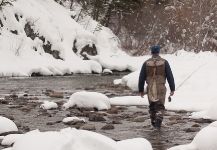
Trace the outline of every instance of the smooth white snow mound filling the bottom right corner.
<path fill-rule="evenodd" d="M 203 128 L 190 144 L 180 145 L 168 150 L 216 150 L 217 121 Z"/>

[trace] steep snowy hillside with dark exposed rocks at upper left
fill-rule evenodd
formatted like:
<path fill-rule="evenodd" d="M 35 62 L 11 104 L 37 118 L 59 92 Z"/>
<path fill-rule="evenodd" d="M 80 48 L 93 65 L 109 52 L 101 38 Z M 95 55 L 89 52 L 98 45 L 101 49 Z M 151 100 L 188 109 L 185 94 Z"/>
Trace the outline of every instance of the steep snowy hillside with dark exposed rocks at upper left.
<path fill-rule="evenodd" d="M 112 65 L 84 60 L 85 54 L 125 55 L 119 47 L 110 29 L 85 29 L 53 0 L 17 0 L 0 13 L 0 76 L 101 73 Z"/>

